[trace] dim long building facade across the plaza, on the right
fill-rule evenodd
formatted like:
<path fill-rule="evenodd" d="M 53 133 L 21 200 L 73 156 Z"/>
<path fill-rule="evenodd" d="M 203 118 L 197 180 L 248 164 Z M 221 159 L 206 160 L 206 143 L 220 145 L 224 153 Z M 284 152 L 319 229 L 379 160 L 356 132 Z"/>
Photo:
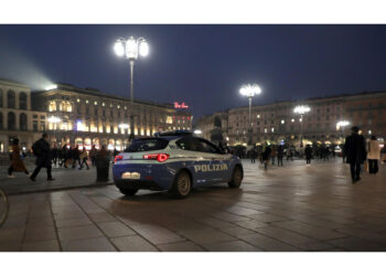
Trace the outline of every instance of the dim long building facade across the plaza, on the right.
<path fill-rule="evenodd" d="M 380 141 L 386 138 L 386 92 L 365 92 L 350 95 L 310 98 L 307 100 L 278 102 L 251 107 L 253 142 L 300 144 L 300 116 L 293 113 L 297 105 L 308 105 L 311 110 L 303 115 L 303 142 L 340 144 L 350 134 L 351 126 L 358 126 L 365 137 L 376 135 Z M 226 112 L 229 145 L 246 145 L 248 139 L 248 107 Z M 203 136 L 214 128 L 213 118 L 206 116 L 196 123 Z M 223 116 L 224 117 L 224 116 Z M 224 118 L 222 119 L 224 120 Z M 341 120 L 350 121 L 344 129 Z"/>

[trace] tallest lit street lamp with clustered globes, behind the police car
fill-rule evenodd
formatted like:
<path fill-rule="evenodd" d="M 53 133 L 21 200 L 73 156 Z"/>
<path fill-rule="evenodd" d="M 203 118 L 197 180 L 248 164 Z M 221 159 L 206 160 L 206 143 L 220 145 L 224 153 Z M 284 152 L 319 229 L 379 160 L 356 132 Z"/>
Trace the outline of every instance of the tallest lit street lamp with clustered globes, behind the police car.
<path fill-rule="evenodd" d="M 135 39 L 130 36 L 128 40 L 118 39 L 114 44 L 114 51 L 119 57 L 129 60 L 130 63 L 130 136 L 129 139 L 135 138 L 135 114 L 133 114 L 133 67 L 138 55 L 147 56 L 149 54 L 149 44 L 143 38 Z M 126 127 L 122 126 L 122 127 Z"/>

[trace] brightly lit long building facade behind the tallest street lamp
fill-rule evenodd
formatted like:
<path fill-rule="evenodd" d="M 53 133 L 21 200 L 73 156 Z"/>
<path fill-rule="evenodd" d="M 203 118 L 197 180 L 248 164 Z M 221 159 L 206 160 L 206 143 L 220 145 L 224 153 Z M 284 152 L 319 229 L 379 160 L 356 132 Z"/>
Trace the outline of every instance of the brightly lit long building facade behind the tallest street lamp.
<path fill-rule="evenodd" d="M 47 131 L 52 142 L 92 145 L 124 149 L 130 135 L 130 99 L 105 94 L 94 88 L 57 84 L 47 91 L 32 93 L 35 109 L 47 114 Z M 169 104 L 133 100 L 135 136 L 150 137 L 160 130 L 192 128 L 192 115 Z"/>

